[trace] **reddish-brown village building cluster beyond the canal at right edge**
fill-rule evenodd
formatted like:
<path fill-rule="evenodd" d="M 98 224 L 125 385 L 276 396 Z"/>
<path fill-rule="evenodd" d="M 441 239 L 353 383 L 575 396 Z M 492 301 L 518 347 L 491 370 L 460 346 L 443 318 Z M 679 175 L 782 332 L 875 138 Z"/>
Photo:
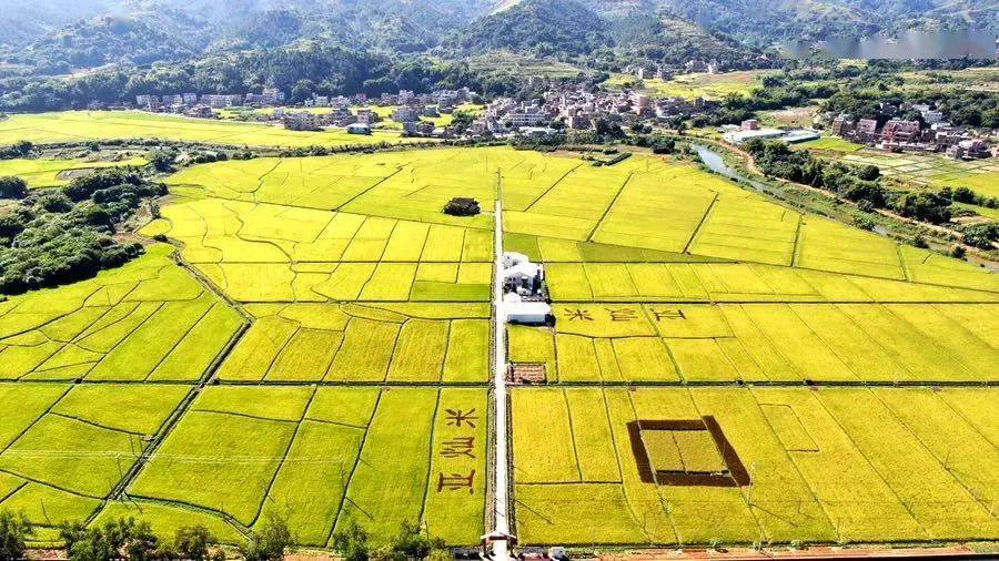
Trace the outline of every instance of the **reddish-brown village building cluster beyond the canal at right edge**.
<path fill-rule="evenodd" d="M 921 121 L 894 115 L 918 112 Z M 926 104 L 907 104 L 900 108 L 882 103 L 880 113 L 891 116 L 884 124 L 875 119 L 854 119 L 849 114 L 826 115 L 831 119 L 831 132 L 859 144 L 867 144 L 890 152 L 942 152 L 958 160 L 976 160 L 999 156 L 999 147 L 991 147 L 987 139 L 946 121 L 942 112 Z"/>

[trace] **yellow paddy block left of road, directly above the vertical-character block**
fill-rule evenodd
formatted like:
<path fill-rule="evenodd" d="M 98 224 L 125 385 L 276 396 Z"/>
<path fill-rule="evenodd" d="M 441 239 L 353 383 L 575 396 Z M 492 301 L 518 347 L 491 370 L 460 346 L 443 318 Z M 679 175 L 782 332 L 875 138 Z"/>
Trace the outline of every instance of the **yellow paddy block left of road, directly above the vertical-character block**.
<path fill-rule="evenodd" d="M 224 381 L 484 382 L 485 304 L 251 306 Z"/>

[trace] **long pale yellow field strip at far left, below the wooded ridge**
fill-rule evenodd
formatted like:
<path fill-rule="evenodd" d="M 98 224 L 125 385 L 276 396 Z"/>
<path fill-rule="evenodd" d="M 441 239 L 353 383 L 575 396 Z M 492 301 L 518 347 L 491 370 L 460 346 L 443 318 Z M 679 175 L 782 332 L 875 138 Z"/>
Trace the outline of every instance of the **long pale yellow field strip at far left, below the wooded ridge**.
<path fill-rule="evenodd" d="M 0 121 L 0 144 L 161 139 L 232 146 L 301 147 L 403 142 L 397 133 L 287 131 L 266 124 L 233 123 L 139 111 L 65 111 L 17 114 Z"/>

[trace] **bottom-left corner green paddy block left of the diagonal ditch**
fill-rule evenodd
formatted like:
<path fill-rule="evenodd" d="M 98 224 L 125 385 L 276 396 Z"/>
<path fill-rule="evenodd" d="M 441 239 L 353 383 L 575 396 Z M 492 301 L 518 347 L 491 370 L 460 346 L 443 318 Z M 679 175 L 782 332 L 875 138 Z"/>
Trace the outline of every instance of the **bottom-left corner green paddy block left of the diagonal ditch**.
<path fill-rule="evenodd" d="M 85 520 L 189 392 L 165 384 L 0 384 L 0 508 L 41 527 Z"/>

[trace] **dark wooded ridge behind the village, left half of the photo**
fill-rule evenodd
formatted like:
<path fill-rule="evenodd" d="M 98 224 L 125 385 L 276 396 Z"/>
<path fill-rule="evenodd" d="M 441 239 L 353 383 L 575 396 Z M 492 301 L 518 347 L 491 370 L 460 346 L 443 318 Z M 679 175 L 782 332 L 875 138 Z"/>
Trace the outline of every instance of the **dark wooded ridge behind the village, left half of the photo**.
<path fill-rule="evenodd" d="M 278 88 L 290 93 L 291 101 L 301 102 L 313 94 L 379 95 L 464 85 L 491 89 L 464 62 L 396 60 L 326 43 L 303 43 L 151 69 L 117 67 L 72 78 L 10 78 L 0 81 L 0 108 L 84 109 L 93 103 L 133 103 L 140 94 L 250 93 L 264 88 Z M 504 89 L 508 86 L 504 84 Z"/>

